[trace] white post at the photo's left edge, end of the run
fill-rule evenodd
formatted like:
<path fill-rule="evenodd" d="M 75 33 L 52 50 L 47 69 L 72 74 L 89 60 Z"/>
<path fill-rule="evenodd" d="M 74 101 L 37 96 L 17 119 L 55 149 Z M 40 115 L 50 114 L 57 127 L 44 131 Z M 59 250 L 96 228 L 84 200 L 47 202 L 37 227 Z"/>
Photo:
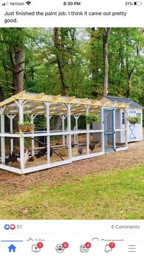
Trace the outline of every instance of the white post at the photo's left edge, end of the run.
<path fill-rule="evenodd" d="M 4 134 L 4 108 L 1 108 L 1 133 Z M 5 137 L 1 136 L 1 163 L 5 164 Z"/>

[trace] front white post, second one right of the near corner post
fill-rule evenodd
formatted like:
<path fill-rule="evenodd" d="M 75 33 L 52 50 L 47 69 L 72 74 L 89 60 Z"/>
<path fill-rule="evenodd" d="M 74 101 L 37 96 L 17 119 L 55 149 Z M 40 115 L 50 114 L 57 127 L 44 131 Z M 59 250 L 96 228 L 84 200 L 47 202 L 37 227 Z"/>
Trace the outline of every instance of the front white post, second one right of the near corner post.
<path fill-rule="evenodd" d="M 71 132 L 71 104 L 67 104 L 67 123 L 68 127 L 67 130 L 68 132 Z M 71 159 L 72 153 L 71 153 L 71 134 L 68 134 L 68 159 Z"/>

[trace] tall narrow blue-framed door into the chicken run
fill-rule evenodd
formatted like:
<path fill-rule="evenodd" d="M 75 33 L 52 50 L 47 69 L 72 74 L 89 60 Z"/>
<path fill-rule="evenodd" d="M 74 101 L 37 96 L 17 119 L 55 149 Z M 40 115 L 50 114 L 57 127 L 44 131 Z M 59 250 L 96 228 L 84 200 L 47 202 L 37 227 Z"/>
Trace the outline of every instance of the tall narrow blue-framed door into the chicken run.
<path fill-rule="evenodd" d="M 114 109 L 104 109 L 104 152 L 115 150 Z"/>

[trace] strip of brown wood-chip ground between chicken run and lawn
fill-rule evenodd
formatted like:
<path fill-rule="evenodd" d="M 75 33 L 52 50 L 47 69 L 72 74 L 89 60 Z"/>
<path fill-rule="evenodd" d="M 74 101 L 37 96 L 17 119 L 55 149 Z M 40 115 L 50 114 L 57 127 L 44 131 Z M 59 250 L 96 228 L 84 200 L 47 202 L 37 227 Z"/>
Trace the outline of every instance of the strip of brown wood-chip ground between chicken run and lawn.
<path fill-rule="evenodd" d="M 144 130 L 143 130 L 144 135 Z M 27 189 L 27 186 L 35 186 L 45 181 L 48 187 L 59 186 L 64 182 L 73 182 L 88 174 L 103 172 L 110 169 L 128 169 L 132 164 L 144 163 L 144 140 L 132 142 L 129 149 L 107 153 L 95 158 L 76 161 L 65 166 L 41 170 L 26 175 L 18 175 L 0 169 L 0 189 L 3 196 L 16 194 Z"/>

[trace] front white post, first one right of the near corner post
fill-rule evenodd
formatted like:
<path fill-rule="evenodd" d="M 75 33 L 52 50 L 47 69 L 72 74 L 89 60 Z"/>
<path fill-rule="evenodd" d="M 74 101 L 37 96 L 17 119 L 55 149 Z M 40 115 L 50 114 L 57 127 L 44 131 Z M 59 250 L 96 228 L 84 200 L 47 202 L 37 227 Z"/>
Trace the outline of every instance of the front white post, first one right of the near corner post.
<path fill-rule="evenodd" d="M 49 121 L 51 119 L 51 116 L 49 115 L 49 105 L 51 103 L 50 102 L 45 102 L 46 105 L 46 130 L 47 133 L 50 132 L 50 124 Z M 46 144 L 47 144 L 47 163 L 50 163 L 50 136 L 46 136 Z"/>

